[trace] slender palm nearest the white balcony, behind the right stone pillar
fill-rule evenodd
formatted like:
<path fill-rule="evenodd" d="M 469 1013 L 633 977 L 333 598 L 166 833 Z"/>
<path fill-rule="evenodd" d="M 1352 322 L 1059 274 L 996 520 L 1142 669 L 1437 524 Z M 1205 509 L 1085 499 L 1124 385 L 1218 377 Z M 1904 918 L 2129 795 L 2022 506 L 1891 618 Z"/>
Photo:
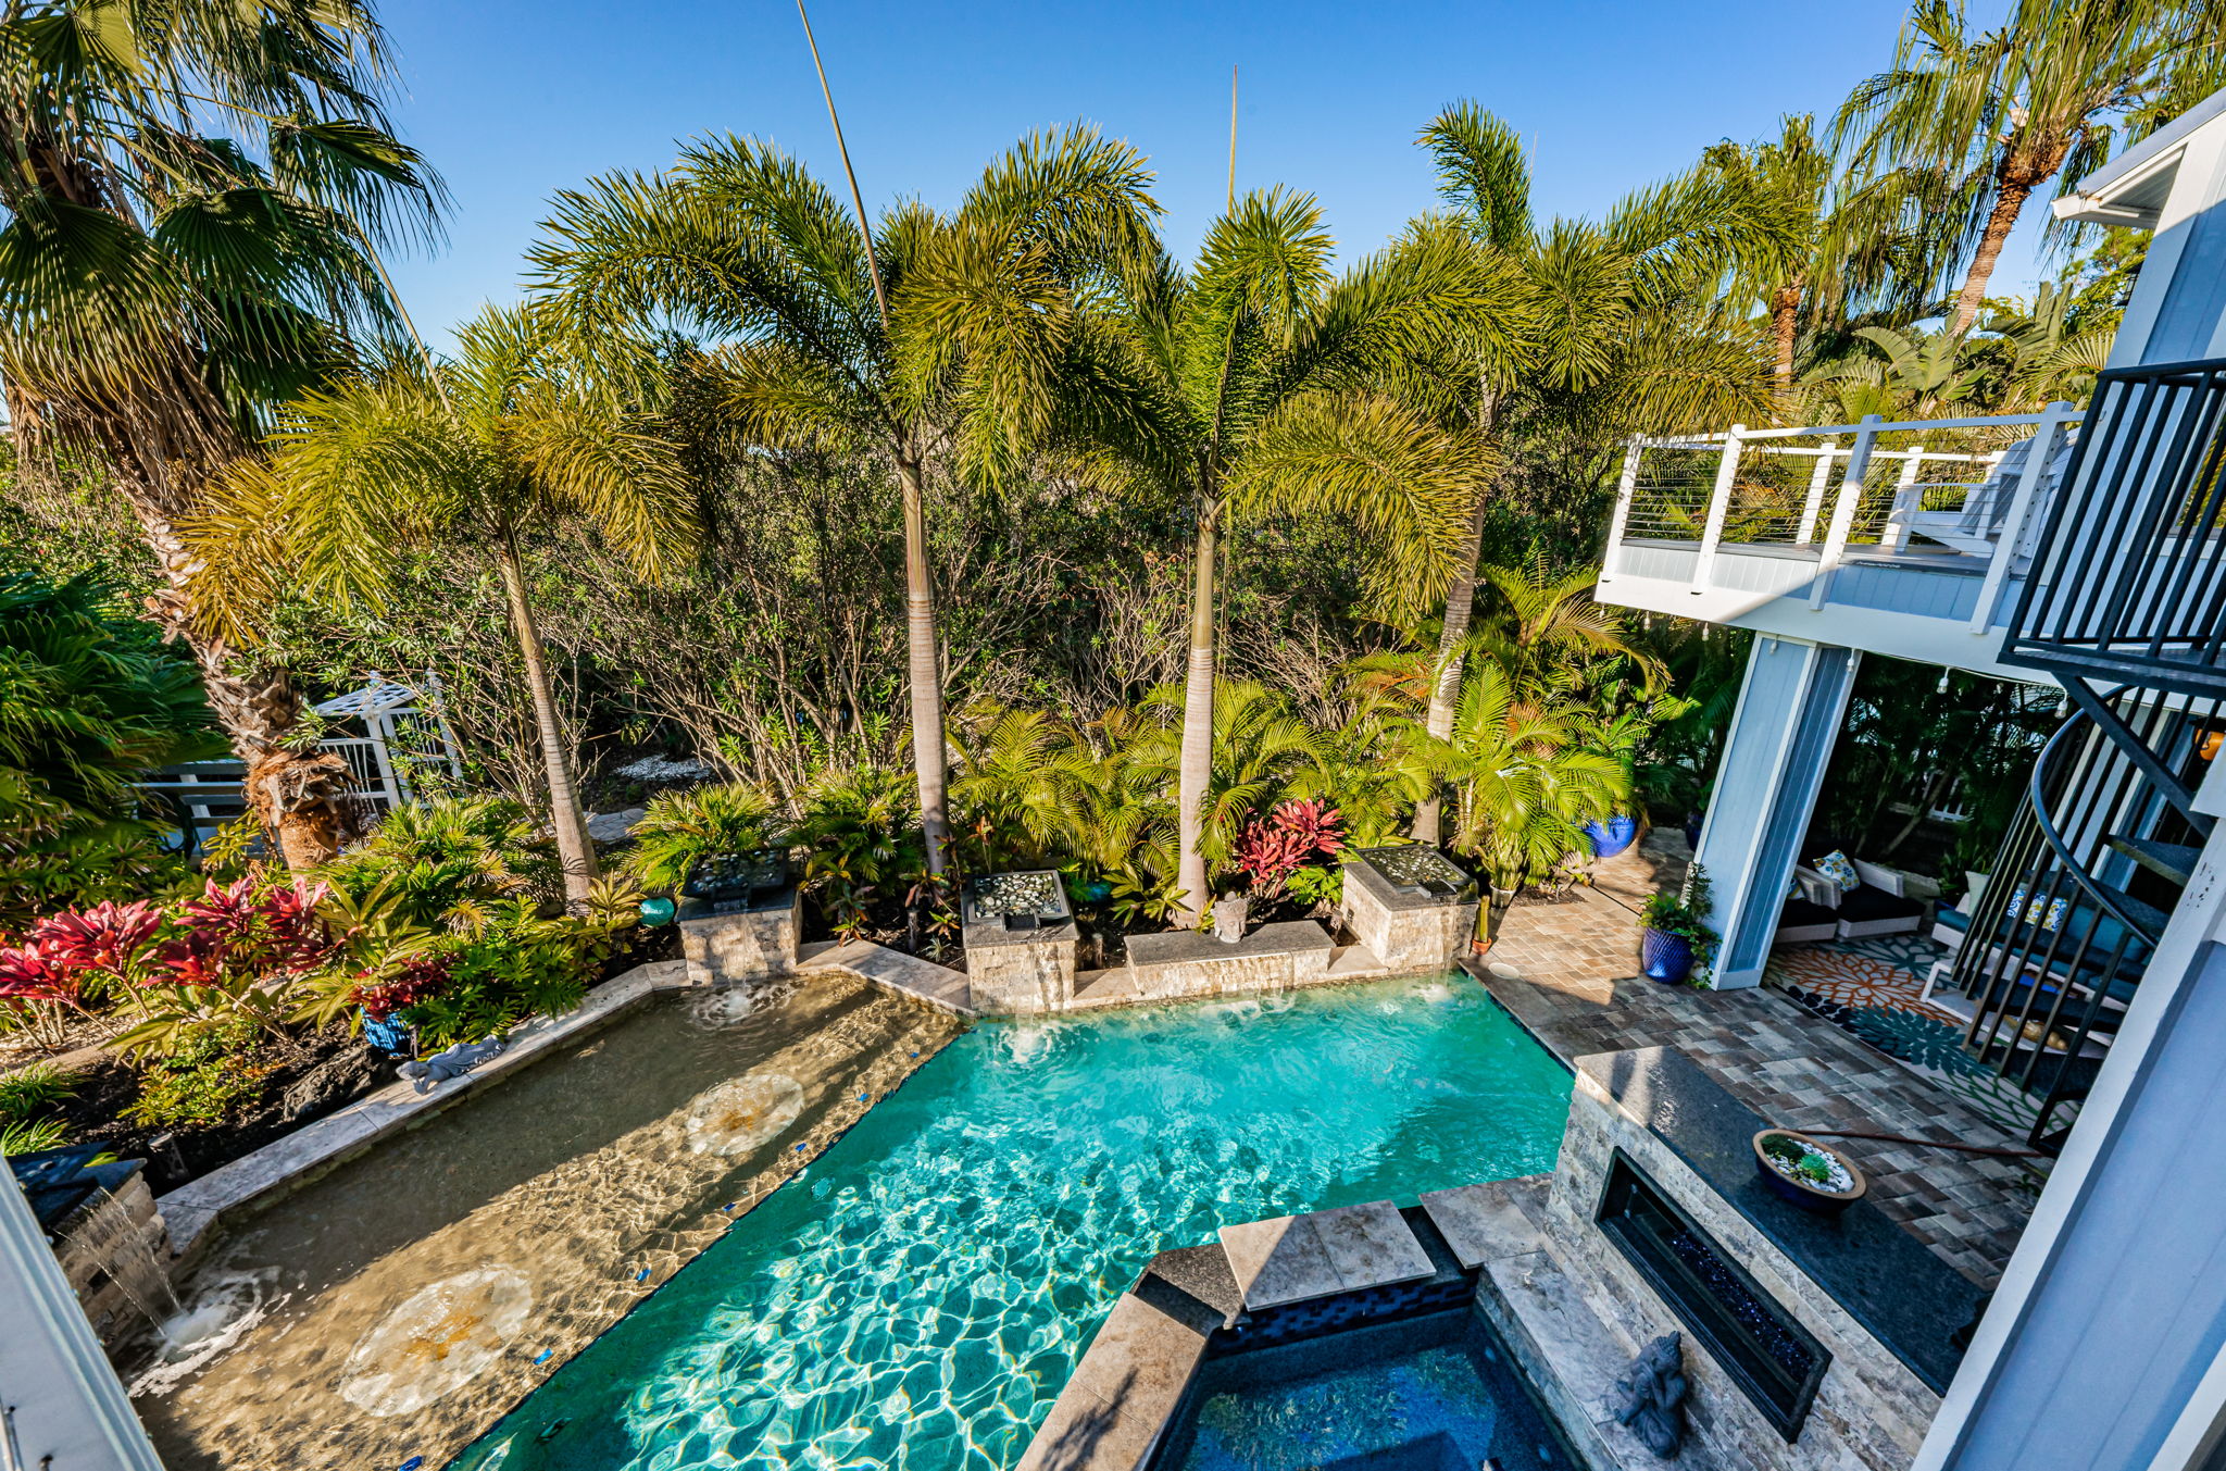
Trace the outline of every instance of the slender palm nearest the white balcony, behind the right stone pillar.
<path fill-rule="evenodd" d="M 1467 332 L 1400 374 L 1402 396 L 1476 441 L 1483 476 L 1445 590 L 1425 730 L 1445 741 L 1476 605 L 1476 559 L 1491 512 L 1491 463 L 1511 394 L 1554 398 L 1614 434 L 1754 416 L 1765 401 L 1752 343 L 1696 312 L 1727 267 L 1776 263 L 1792 225 L 1721 171 L 1694 169 L 1616 205 L 1605 225 L 1531 216 L 1520 136 L 1476 102 L 1420 134 L 1456 227 L 1500 285 Z M 1416 841 L 1436 843 L 1438 799 L 1416 806 Z"/>

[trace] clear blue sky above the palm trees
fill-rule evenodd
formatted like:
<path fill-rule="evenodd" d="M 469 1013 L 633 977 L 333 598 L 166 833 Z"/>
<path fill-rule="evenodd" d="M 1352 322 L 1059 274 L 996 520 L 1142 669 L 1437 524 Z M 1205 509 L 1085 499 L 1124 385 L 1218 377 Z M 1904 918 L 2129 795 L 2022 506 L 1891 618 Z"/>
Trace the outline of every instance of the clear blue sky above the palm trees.
<path fill-rule="evenodd" d="M 1999 4 L 1979 0 L 1977 16 Z M 1229 67 L 1242 69 L 1238 185 L 1320 196 L 1347 256 L 1431 203 L 1416 129 L 1476 98 L 1536 138 L 1538 203 L 1596 214 L 1721 138 L 1828 116 L 1881 69 L 1899 0 L 819 0 L 812 24 L 868 207 L 955 203 L 1020 134 L 1075 118 L 1158 169 L 1169 238 L 1220 209 Z M 519 292 L 552 191 L 654 169 L 674 140 L 779 142 L 837 158 L 792 0 L 385 0 L 403 134 L 456 194 L 450 245 L 396 260 L 427 336 Z M 1997 294 L 2030 287 L 2041 203 Z"/>

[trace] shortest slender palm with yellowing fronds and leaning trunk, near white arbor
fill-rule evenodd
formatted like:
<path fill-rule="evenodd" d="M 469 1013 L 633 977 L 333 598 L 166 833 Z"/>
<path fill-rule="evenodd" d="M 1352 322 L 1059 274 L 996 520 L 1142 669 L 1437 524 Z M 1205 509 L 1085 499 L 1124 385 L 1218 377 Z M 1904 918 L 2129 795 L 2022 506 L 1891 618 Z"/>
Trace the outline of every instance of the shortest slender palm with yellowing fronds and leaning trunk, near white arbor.
<path fill-rule="evenodd" d="M 285 409 L 267 465 L 245 463 L 196 527 L 198 601 L 252 636 L 276 579 L 334 601 L 385 596 L 396 550 L 463 545 L 503 581 L 565 901 L 597 877 L 519 539 L 585 523 L 641 576 L 679 556 L 688 523 L 677 450 L 554 336 L 545 314 L 490 307 L 456 332 L 459 356 L 312 392 Z"/>

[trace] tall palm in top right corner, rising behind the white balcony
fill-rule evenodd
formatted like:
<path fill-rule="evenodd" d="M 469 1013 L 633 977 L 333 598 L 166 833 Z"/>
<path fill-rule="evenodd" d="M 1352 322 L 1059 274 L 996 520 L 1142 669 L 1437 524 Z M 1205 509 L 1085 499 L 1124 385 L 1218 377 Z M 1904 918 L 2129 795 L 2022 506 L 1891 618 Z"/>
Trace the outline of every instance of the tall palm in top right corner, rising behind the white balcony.
<path fill-rule="evenodd" d="M 2037 189 L 2108 160 L 2112 118 L 2153 127 L 2222 82 L 2215 0 L 2015 0 L 2001 29 L 1977 36 L 1961 4 L 1917 0 L 1894 65 L 1854 87 L 1832 140 L 1856 174 L 1968 180 L 1948 320 L 1961 336 Z"/>

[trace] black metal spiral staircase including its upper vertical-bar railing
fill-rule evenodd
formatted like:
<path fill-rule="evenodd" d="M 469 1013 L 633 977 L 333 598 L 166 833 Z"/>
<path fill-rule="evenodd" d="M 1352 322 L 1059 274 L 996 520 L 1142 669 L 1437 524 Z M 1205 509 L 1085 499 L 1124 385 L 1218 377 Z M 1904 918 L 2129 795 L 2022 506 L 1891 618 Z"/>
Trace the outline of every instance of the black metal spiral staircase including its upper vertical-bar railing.
<path fill-rule="evenodd" d="M 2226 358 L 2101 376 L 2001 656 L 2057 677 L 2066 721 L 1950 984 L 1968 1055 L 2035 1097 L 2032 1146 L 2055 1153 L 2213 828 L 2195 788 L 2226 734 Z"/>

